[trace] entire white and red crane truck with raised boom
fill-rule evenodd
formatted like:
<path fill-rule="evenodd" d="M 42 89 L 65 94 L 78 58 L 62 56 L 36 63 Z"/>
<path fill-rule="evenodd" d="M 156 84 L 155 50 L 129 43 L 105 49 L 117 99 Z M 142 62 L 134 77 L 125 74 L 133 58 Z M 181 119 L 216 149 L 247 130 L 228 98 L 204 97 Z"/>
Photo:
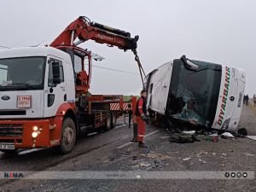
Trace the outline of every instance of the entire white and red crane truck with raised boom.
<path fill-rule="evenodd" d="M 1 50 L 1 151 L 57 145 L 66 154 L 77 137 L 116 125 L 127 103 L 122 96 L 90 94 L 91 52 L 78 46 L 88 40 L 132 50 L 141 75 L 144 73 L 137 55 L 138 36 L 131 38 L 130 32 L 84 16 L 48 46 Z M 134 110 L 136 97 L 131 104 Z"/>

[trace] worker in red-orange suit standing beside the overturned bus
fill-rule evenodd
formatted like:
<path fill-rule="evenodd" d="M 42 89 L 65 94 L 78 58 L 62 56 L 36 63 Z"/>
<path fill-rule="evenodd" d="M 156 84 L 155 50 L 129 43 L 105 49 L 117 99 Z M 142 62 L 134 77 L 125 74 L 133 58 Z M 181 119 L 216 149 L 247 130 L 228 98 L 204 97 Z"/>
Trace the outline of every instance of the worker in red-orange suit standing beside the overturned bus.
<path fill-rule="evenodd" d="M 146 107 L 147 91 L 141 91 L 141 97 L 137 100 L 136 119 L 137 119 L 137 141 L 138 147 L 144 148 L 143 138 L 145 136 L 145 121 L 147 121 L 147 107 Z"/>

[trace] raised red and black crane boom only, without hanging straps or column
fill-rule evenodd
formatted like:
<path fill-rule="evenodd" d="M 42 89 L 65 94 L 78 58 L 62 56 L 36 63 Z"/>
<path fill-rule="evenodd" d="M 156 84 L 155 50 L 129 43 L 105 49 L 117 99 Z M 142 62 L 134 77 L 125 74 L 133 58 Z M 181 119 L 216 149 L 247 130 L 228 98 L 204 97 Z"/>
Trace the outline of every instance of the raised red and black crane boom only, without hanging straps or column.
<path fill-rule="evenodd" d="M 79 38 L 79 41 L 74 43 L 76 38 Z M 104 26 L 96 22 L 90 22 L 87 17 L 80 16 L 67 26 L 64 32 L 61 32 L 50 46 L 78 45 L 89 39 L 99 44 L 109 44 L 111 46 L 117 46 L 119 49 L 127 50 L 137 49 L 138 36 L 131 38 L 129 32 Z"/>

